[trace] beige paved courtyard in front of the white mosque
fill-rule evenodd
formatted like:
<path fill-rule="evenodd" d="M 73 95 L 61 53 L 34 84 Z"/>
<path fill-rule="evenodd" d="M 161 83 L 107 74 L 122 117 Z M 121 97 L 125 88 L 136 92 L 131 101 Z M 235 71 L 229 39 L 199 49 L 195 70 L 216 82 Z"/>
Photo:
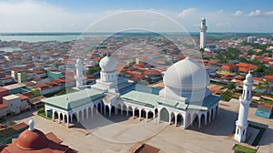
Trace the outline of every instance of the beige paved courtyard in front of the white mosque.
<path fill-rule="evenodd" d="M 160 152 L 233 152 L 237 143 L 233 140 L 235 120 L 238 116 L 238 100 L 221 101 L 219 115 L 207 126 L 197 128 L 197 124 L 187 129 L 168 126 L 166 123 L 157 124 L 150 120 L 145 122 L 139 118 L 99 117 L 84 122 L 85 128 L 66 128 L 30 112 L 13 117 L 17 122 L 27 123 L 35 120 L 35 128 L 45 133 L 54 132 L 64 141 L 64 145 L 75 148 L 79 152 L 131 152 L 143 143 L 159 148 Z M 256 107 L 250 107 L 248 120 L 251 124 L 268 126 L 260 141 L 258 152 L 269 153 L 273 150 L 273 119 L 254 115 Z M 263 124 L 263 125 L 260 125 Z"/>

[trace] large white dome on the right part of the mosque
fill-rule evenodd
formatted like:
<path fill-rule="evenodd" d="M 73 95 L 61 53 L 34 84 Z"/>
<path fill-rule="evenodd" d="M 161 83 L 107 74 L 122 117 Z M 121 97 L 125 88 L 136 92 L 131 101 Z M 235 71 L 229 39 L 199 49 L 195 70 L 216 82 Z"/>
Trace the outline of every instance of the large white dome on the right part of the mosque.
<path fill-rule="evenodd" d="M 167 87 L 194 91 L 205 89 L 209 84 L 209 76 L 204 66 L 187 57 L 167 68 L 163 82 Z"/>

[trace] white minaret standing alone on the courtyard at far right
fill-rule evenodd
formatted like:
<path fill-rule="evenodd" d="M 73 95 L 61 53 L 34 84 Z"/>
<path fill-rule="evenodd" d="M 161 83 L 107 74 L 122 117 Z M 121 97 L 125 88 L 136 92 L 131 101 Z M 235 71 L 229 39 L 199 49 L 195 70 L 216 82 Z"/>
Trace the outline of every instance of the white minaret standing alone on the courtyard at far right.
<path fill-rule="evenodd" d="M 239 97 L 240 107 L 238 112 L 238 120 L 236 121 L 236 131 L 234 139 L 239 142 L 246 141 L 248 128 L 248 109 L 251 103 L 251 89 L 253 85 L 252 75 L 250 71 L 244 80 L 243 94 Z"/>

